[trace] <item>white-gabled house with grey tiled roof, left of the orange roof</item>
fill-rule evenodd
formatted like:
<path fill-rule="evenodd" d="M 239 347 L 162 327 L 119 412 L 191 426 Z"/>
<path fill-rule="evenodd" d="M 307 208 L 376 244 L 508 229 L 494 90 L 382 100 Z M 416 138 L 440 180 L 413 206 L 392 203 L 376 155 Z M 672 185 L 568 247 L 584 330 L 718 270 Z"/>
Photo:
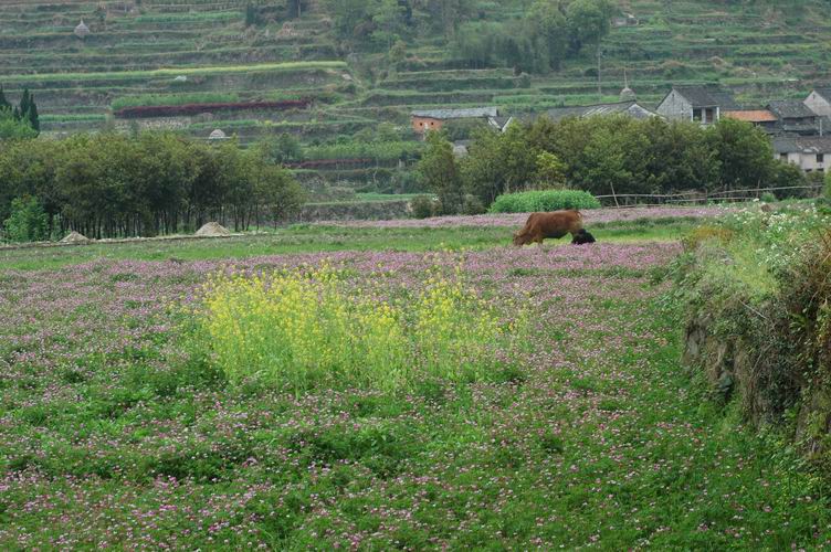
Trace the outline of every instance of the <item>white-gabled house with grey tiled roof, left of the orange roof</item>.
<path fill-rule="evenodd" d="M 671 120 L 712 125 L 724 112 L 739 110 L 733 95 L 717 86 L 673 86 L 658 105 L 658 114 Z"/>

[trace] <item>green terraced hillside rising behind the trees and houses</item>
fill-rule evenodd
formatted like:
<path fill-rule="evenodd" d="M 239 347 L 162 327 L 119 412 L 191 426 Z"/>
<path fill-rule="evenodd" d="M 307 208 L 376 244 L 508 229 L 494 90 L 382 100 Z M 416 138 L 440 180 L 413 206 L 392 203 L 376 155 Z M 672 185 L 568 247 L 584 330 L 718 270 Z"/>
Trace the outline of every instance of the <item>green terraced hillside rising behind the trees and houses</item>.
<path fill-rule="evenodd" d="M 529 3 L 480 2 L 474 19 L 508 21 Z M 50 135 L 164 126 L 207 138 L 221 128 L 243 144 L 291 132 L 319 149 L 365 129 L 371 134 L 380 121 L 398 125 L 399 139 L 412 140 L 406 126 L 412 108 L 496 105 L 516 114 L 612 99 L 624 70 L 646 104 L 656 103 L 673 83 L 720 82 L 755 104 L 801 96 L 831 79 L 831 22 L 821 0 L 787 6 L 621 1 L 621 13 L 632 13 L 638 24 L 613 26 L 602 41 L 601 94 L 593 49 L 567 60 L 557 73 L 516 75 L 504 67 L 466 67 L 452 39 L 417 33 L 393 66 L 386 49 L 350 53 L 338 44 L 324 2 L 307 2 L 301 17 L 286 6 L 265 0 L 7 0 L 0 3 L 0 81 L 11 97 L 23 87 L 34 91 Z M 262 15 L 255 24 L 246 24 L 249 9 Z M 90 30 L 83 39 L 73 32 L 82 20 Z M 311 105 L 297 108 L 297 100 Z M 206 108 L 164 118 L 122 112 L 249 102 L 272 107 Z M 367 170 L 402 164 L 399 160 L 406 166 L 411 149 L 304 169 L 351 171 L 360 179 Z M 320 160 L 322 155 L 311 157 Z"/>

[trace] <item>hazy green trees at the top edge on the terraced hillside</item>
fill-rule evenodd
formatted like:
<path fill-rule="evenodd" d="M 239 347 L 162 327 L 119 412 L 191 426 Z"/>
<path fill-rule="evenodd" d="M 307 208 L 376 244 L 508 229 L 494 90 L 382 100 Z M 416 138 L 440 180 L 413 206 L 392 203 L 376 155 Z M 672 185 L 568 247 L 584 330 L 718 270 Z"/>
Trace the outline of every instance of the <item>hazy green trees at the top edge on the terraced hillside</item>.
<path fill-rule="evenodd" d="M 617 7 L 610 0 L 535 0 L 526 15 L 483 21 L 474 0 L 327 0 L 338 38 L 353 49 L 386 49 L 401 61 L 407 42 L 440 34 L 471 67 L 559 70 L 564 60 L 608 34 Z"/>

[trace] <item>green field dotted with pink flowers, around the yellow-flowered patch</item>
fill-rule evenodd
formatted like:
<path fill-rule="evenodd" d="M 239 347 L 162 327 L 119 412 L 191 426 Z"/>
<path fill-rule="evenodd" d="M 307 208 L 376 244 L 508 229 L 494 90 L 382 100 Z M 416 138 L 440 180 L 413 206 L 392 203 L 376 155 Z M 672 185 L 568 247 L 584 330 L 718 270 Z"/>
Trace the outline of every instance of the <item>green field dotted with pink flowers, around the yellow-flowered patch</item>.
<path fill-rule="evenodd" d="M 0 546 L 828 545 L 822 481 L 680 368 L 661 275 L 694 224 L 598 223 L 580 247 L 453 225 L 0 251 Z M 210 275 L 320 264 L 377 301 L 455 274 L 525 317 L 523 342 L 470 381 L 296 393 L 230 379 L 193 338 Z"/>

